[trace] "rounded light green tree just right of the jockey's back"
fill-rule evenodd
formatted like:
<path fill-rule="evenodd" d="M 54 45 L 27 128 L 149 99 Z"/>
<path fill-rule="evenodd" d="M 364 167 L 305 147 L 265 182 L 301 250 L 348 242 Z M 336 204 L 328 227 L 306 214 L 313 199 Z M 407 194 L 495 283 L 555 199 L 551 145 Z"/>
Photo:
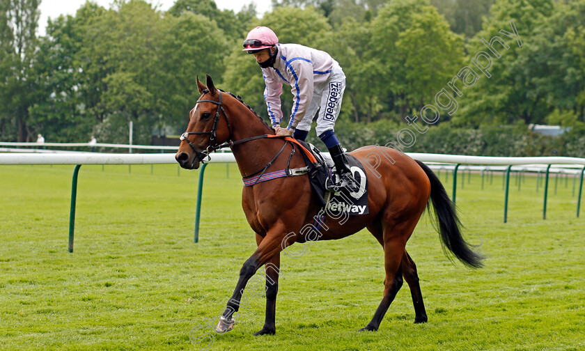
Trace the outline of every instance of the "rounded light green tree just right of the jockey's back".
<path fill-rule="evenodd" d="M 464 57 L 462 38 L 426 0 L 396 0 L 371 23 L 367 58 L 378 96 L 405 118 L 432 101 Z"/>

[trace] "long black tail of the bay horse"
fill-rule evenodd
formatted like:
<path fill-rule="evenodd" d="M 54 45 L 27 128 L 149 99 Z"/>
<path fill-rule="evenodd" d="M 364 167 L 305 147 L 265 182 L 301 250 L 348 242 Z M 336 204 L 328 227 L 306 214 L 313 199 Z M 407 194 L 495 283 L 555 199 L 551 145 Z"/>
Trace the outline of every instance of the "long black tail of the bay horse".
<path fill-rule="evenodd" d="M 435 208 L 435 217 L 439 221 L 437 231 L 441 235 L 445 253 L 448 253 L 446 251 L 448 249 L 468 267 L 482 267 L 481 260 L 483 260 L 483 256 L 471 251 L 469 244 L 463 239 L 460 231 L 461 223 L 457 217 L 457 212 L 455 212 L 455 204 L 447 195 L 441 181 L 426 164 L 418 160 L 416 160 L 416 163 L 421 166 L 428 180 L 430 180 L 430 201 L 432 201 L 432 207 Z"/>

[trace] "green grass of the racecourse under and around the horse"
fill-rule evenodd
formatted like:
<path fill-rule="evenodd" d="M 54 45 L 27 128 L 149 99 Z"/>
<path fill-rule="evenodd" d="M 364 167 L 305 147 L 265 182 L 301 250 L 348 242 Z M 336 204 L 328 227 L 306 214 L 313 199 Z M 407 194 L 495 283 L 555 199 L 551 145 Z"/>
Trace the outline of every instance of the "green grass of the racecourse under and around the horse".
<path fill-rule="evenodd" d="M 217 318 L 256 243 L 234 164 L 205 175 L 200 242 L 193 243 L 198 172 L 174 165 L 82 166 L 75 250 L 67 251 L 73 166 L 0 166 L 1 350 L 198 350 L 189 332 Z M 151 172 L 153 174 L 151 174 Z M 179 174 L 179 175 L 178 175 Z M 445 180 L 445 173 L 441 173 Z M 451 194 L 452 177 L 445 182 Z M 366 231 L 282 255 L 276 335 L 254 337 L 263 297 L 249 295 L 235 329 L 210 350 L 583 350 L 585 214 L 572 178 L 543 188 L 465 176 L 465 233 L 488 256 L 453 264 L 425 215 L 407 244 L 429 321 L 414 325 L 403 286 L 380 330 L 358 333 L 382 298 L 382 249 Z M 262 276 L 262 274 L 258 274 Z M 214 322 L 212 322 L 214 324 Z M 194 337 L 210 329 L 194 331 Z"/>

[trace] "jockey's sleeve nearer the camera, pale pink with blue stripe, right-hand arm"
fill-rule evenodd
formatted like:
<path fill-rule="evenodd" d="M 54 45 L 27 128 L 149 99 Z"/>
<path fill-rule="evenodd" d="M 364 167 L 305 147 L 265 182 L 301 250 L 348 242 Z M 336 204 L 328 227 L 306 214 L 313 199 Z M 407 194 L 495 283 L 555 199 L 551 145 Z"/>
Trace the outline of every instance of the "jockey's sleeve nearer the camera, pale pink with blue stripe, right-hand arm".
<path fill-rule="evenodd" d="M 291 81 L 292 110 L 288 129 L 294 130 L 304 118 L 306 110 L 313 99 L 313 65 L 311 61 L 301 57 L 287 62 L 286 69 L 295 78 Z"/>

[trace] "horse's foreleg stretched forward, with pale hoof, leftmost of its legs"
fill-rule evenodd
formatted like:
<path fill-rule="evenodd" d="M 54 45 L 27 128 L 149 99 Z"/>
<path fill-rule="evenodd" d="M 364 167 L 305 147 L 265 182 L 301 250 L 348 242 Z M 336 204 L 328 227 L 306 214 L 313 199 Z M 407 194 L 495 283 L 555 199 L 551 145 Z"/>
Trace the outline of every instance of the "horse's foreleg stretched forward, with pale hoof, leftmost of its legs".
<path fill-rule="evenodd" d="M 252 256 L 250 256 L 250 258 L 244 262 L 244 265 L 242 265 L 240 279 L 237 280 L 233 295 L 228 301 L 224 313 L 221 313 L 217 327 L 215 327 L 217 333 L 222 334 L 233 329 L 233 325 L 235 324 L 233 314 L 240 309 L 242 299 L 246 299 L 246 297 L 242 298 L 246 284 L 250 278 L 256 274 L 258 268 L 262 267 L 270 260 L 270 258 L 282 251 L 281 240 L 284 235 L 283 233 L 284 231 L 282 231 L 280 235 L 270 235 L 270 233 L 268 233 L 258 245 L 258 249 L 256 249 L 256 251 L 252 253 Z"/>

